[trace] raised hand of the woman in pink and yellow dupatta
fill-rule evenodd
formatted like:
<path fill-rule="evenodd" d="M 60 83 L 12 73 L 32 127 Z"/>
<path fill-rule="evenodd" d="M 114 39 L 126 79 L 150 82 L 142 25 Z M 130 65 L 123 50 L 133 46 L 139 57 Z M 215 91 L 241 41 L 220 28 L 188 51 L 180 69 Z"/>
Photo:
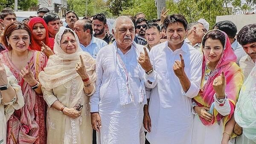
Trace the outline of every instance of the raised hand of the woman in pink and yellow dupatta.
<path fill-rule="evenodd" d="M 225 98 L 226 79 L 223 71 L 220 76 L 214 79 L 212 87 L 218 99 Z"/>

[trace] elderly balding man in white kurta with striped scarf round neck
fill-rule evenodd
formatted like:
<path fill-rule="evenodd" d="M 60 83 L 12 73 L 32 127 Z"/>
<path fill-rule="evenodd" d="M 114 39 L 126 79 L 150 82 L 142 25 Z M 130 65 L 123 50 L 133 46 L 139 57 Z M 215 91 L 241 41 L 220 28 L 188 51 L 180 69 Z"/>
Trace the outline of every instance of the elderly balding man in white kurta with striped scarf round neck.
<path fill-rule="evenodd" d="M 98 143 L 140 144 L 146 103 L 144 69 L 151 65 L 140 66 L 138 59 L 145 49 L 133 41 L 134 25 L 128 17 L 116 19 L 113 34 L 116 41 L 103 47 L 96 59 L 96 92 L 90 98 L 92 126 L 98 131 Z"/>

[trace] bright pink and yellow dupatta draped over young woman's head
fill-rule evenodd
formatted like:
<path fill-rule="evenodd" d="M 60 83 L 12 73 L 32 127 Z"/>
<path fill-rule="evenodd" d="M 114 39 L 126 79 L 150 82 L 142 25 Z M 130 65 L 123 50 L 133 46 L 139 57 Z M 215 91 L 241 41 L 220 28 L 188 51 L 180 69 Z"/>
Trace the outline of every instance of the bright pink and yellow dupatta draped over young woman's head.
<path fill-rule="evenodd" d="M 236 64 L 236 55 L 231 48 L 230 40 L 228 39 L 227 34 L 224 33 L 224 35 L 226 37 L 226 42 L 225 42 L 225 46 L 224 46 L 221 58 L 218 61 L 218 64 L 215 70 L 212 72 L 211 75 L 209 75 L 209 78 L 205 85 L 204 85 L 204 77 L 205 77 L 207 59 L 206 59 L 206 56 L 204 55 L 203 66 L 202 66 L 203 69 L 202 69 L 201 89 L 198 95 L 194 98 L 194 100 L 198 104 L 198 106 L 204 106 L 204 107 L 210 108 L 212 103 L 214 102 L 213 96 L 215 94 L 215 91 L 212 87 L 213 80 L 219 75 L 221 75 L 221 72 L 223 71 L 226 78 L 225 92 L 227 94 L 227 98 L 230 103 L 231 111 L 229 115 L 223 116 L 219 114 L 216 109 L 214 109 L 212 122 L 205 121 L 204 118 L 200 117 L 200 120 L 206 126 L 212 125 L 215 122 L 219 123 L 222 118 L 224 118 L 224 126 L 225 126 L 227 121 L 230 120 L 231 116 L 234 113 L 236 101 L 238 100 L 238 96 L 239 96 L 239 90 L 243 84 L 244 77 L 241 69 Z M 202 47 L 202 51 L 203 51 L 203 47 Z"/>

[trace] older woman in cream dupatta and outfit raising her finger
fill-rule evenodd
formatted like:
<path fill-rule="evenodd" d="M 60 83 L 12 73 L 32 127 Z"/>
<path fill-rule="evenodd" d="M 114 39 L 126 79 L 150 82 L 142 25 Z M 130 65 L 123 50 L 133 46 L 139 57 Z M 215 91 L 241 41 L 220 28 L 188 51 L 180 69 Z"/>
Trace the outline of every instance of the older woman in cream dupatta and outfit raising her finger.
<path fill-rule="evenodd" d="M 72 46 L 76 50 L 68 52 Z M 91 144 L 89 96 L 95 92 L 95 60 L 81 50 L 77 35 L 64 27 L 55 37 L 53 50 L 55 55 L 39 75 L 49 106 L 47 144 Z"/>

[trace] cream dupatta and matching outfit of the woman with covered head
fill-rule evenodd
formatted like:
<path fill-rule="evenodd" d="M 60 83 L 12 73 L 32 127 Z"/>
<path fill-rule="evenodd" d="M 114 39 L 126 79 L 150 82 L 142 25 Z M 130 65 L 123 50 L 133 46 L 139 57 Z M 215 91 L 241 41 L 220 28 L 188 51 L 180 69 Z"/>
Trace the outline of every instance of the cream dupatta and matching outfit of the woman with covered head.
<path fill-rule="evenodd" d="M 78 48 L 73 54 L 67 54 L 61 49 L 61 37 L 66 29 L 68 28 L 61 27 L 56 34 L 53 48 L 55 55 L 49 57 L 47 66 L 39 74 L 44 100 L 49 106 L 47 112 L 47 143 L 56 144 L 56 141 L 59 141 L 63 144 L 85 144 L 84 141 L 88 143 L 91 141 L 91 138 L 88 138 L 88 135 L 91 134 L 86 135 L 83 131 L 84 127 L 90 126 L 89 95 L 84 92 L 84 84 L 76 72 L 76 64 L 81 63 L 79 57 L 81 55 L 90 81 L 94 83 L 96 80 L 95 59 L 89 53 L 82 51 L 79 39 L 71 29 L 69 30 L 75 35 Z M 94 92 L 95 89 L 91 94 Z M 68 108 L 79 107 L 79 104 L 83 105 L 82 114 L 74 119 L 61 114 L 58 109 L 51 107 L 57 100 Z M 62 119 L 58 121 L 56 117 Z M 82 120 L 84 120 L 83 123 Z M 87 130 L 90 130 L 90 128 Z M 54 133 L 58 135 L 58 138 L 55 138 Z"/>

